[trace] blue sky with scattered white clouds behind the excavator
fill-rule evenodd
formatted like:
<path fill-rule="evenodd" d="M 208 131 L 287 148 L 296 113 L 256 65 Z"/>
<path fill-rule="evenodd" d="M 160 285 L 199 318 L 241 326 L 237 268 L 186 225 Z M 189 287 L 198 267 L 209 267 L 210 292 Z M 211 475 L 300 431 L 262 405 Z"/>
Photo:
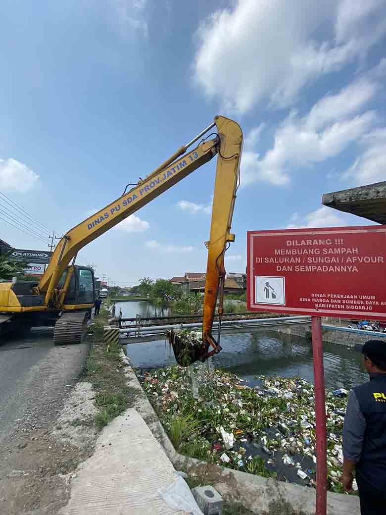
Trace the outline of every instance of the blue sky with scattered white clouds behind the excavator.
<path fill-rule="evenodd" d="M 322 194 L 386 179 L 386 0 L 3 0 L 0 19 L 0 191 L 59 234 L 216 114 L 244 133 L 228 271 L 247 230 L 362 225 Z M 205 271 L 215 165 L 79 262 L 120 284 Z M 0 238 L 46 248 L 6 218 Z"/>

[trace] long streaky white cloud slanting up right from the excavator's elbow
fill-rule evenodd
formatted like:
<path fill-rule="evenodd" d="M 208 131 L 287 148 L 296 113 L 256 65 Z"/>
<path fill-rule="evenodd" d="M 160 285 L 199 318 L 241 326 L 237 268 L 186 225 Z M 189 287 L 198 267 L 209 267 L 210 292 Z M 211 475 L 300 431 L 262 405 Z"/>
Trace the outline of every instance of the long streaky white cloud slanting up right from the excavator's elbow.
<path fill-rule="evenodd" d="M 258 159 L 247 148 L 241 160 L 241 184 L 267 181 L 283 185 L 296 168 L 338 156 L 373 128 L 374 111 L 354 114 L 363 109 L 378 90 L 378 84 L 359 79 L 338 94 L 326 95 L 303 117 L 292 111 L 276 129 L 273 147 Z"/>

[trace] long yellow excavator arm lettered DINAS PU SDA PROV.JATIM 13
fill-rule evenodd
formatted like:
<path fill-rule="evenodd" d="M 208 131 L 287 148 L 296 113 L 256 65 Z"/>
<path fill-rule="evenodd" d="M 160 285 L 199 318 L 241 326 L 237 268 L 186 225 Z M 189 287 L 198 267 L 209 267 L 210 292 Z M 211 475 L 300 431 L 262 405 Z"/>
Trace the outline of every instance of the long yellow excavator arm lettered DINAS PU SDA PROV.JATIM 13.
<path fill-rule="evenodd" d="M 214 135 L 214 138 L 202 140 L 196 148 L 188 151 L 191 145 L 215 126 L 217 135 L 209 135 Z M 235 239 L 230 231 L 239 182 L 241 151 L 242 131 L 239 125 L 231 119 L 216 116 L 212 125 L 181 147 L 144 180 L 140 180 L 130 191 L 69 230 L 58 243 L 38 286 L 39 293 L 45 295 L 45 305 L 48 307 L 55 304 L 59 309 L 63 307 L 73 267 L 68 269 L 63 288 L 58 290 L 57 285 L 71 260 L 74 264 L 79 250 L 217 155 L 212 222 L 209 242 L 206 243 L 208 261 L 203 310 L 203 346 L 199 358 L 204 361 L 206 357 L 219 352 L 221 347 L 212 335 L 212 325 L 219 294 L 220 317 L 222 314 L 224 253 L 228 243 Z"/>

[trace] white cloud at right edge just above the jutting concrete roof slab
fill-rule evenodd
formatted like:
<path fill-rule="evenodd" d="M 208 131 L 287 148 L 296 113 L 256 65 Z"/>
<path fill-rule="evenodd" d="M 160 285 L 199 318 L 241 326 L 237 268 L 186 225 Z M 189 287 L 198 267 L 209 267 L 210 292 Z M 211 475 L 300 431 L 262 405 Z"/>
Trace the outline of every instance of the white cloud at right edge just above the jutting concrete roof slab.
<path fill-rule="evenodd" d="M 358 185 L 383 181 L 386 177 L 386 128 L 374 129 L 361 140 L 363 153 L 343 174 Z"/>

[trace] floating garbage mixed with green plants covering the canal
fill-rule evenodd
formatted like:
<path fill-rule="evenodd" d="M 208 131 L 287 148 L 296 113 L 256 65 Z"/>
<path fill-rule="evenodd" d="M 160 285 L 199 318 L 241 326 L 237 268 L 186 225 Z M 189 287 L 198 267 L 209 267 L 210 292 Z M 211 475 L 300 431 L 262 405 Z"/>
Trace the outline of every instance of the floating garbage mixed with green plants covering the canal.
<path fill-rule="evenodd" d="M 191 376 L 199 385 L 193 396 Z M 143 388 L 181 453 L 224 467 L 315 486 L 313 385 L 259 376 L 261 386 L 206 365 L 145 373 Z M 343 492 L 342 431 L 347 390 L 326 391 L 328 488 Z M 176 438 L 176 432 L 178 438 Z M 177 443 L 176 443 L 177 442 Z"/>

